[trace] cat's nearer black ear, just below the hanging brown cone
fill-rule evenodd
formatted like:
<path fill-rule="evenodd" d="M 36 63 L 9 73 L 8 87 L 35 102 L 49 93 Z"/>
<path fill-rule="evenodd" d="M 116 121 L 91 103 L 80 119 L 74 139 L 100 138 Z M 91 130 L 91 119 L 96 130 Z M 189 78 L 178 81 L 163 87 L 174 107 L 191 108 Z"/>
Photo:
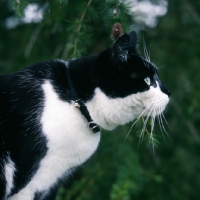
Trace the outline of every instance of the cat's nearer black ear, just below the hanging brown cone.
<path fill-rule="evenodd" d="M 130 48 L 130 37 L 126 33 L 122 35 L 111 47 L 111 58 L 114 65 L 126 62 Z"/>

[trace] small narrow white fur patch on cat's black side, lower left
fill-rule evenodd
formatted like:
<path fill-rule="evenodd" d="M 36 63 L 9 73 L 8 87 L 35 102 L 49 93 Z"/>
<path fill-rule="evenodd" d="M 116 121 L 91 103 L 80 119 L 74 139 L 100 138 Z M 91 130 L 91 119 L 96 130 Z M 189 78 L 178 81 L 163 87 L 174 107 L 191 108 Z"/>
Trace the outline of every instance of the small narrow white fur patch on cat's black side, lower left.
<path fill-rule="evenodd" d="M 13 161 L 8 158 L 8 162 L 5 164 L 5 177 L 6 177 L 6 194 L 9 195 L 13 188 L 13 178 L 15 172 L 15 165 Z"/>

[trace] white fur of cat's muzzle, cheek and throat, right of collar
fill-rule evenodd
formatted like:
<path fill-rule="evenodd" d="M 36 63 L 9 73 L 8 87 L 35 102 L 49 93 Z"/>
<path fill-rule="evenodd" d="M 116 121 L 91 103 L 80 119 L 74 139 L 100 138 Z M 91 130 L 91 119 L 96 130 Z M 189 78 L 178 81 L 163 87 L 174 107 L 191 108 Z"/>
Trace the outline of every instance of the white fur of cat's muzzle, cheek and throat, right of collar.
<path fill-rule="evenodd" d="M 158 84 L 157 84 L 158 85 Z M 118 125 L 126 124 L 138 118 L 145 108 L 154 108 L 158 115 L 165 109 L 169 97 L 159 85 L 150 87 L 148 91 L 129 95 L 125 98 L 109 98 L 99 88 L 94 98 L 86 105 L 92 119 L 104 129 L 112 130 Z"/>

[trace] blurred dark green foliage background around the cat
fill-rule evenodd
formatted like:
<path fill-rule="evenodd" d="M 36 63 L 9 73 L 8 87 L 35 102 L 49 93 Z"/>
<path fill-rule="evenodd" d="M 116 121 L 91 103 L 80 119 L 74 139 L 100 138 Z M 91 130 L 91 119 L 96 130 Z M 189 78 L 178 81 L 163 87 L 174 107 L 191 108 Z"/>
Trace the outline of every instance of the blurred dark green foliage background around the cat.
<path fill-rule="evenodd" d="M 34 62 L 98 53 L 112 25 L 138 33 L 171 89 L 169 124 L 155 151 L 131 123 L 102 133 L 92 158 L 63 183 L 57 200 L 200 199 L 199 0 L 1 0 L 0 73 Z M 139 144 L 139 145 L 138 145 Z M 73 180 L 73 181 L 72 181 Z"/>

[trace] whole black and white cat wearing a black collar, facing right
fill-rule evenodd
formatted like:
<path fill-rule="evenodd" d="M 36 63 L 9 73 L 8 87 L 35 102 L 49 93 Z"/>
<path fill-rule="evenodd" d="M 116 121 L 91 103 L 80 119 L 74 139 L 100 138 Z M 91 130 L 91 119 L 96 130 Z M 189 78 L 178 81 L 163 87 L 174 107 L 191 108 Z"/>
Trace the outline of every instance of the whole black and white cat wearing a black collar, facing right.
<path fill-rule="evenodd" d="M 122 35 L 98 55 L 0 76 L 0 199 L 55 199 L 96 150 L 100 128 L 162 114 L 170 91 Z"/>

